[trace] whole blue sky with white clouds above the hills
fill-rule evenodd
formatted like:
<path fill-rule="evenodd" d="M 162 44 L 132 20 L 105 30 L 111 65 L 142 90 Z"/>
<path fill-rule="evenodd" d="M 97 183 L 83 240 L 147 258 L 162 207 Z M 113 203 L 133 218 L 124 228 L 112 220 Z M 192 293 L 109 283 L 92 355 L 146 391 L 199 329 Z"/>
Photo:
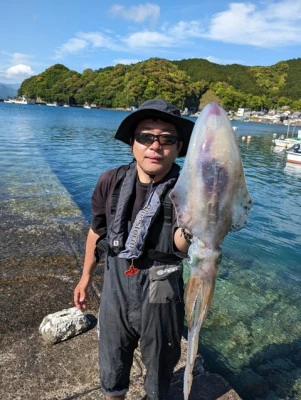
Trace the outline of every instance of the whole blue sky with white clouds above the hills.
<path fill-rule="evenodd" d="M 81 73 L 151 57 L 248 66 L 299 58 L 301 1 L 2 2 L 2 83 L 56 63 Z"/>

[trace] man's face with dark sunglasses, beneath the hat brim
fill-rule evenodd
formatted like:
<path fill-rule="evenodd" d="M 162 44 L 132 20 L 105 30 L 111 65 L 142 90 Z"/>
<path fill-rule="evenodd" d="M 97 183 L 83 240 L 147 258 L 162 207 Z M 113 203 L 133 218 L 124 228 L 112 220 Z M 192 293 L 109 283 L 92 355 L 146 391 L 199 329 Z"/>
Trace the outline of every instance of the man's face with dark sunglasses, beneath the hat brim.
<path fill-rule="evenodd" d="M 172 123 L 152 119 L 140 121 L 135 133 L 142 134 L 142 137 L 143 133 L 150 133 L 155 136 L 178 136 L 177 129 Z M 164 141 L 164 138 L 162 141 Z M 133 139 L 132 152 L 137 161 L 139 180 L 148 183 L 150 175 L 154 176 L 155 182 L 164 178 L 178 156 L 181 147 L 182 142 L 179 141 L 174 144 L 160 144 L 158 140 L 155 140 L 153 143 L 142 144 Z"/>

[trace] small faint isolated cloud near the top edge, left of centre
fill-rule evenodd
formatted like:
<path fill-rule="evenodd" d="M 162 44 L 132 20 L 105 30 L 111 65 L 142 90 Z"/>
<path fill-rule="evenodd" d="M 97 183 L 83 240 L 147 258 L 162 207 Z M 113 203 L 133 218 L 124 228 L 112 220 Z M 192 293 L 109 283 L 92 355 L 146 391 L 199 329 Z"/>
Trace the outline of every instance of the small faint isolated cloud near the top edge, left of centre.
<path fill-rule="evenodd" d="M 142 23 L 147 20 L 156 23 L 160 17 L 160 7 L 153 3 L 138 4 L 129 8 L 116 4 L 110 8 L 109 13 L 113 17 L 121 17 L 136 23 Z"/>

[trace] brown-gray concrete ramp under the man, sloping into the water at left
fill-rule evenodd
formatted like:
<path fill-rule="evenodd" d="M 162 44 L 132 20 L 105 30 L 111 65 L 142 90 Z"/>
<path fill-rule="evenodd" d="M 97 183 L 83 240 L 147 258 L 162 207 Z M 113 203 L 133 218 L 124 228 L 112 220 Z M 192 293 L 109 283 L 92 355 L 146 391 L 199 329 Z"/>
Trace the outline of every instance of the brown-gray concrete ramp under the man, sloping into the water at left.
<path fill-rule="evenodd" d="M 4 176 L 0 194 L 0 399 L 103 399 L 96 328 L 56 345 L 38 332 L 43 318 L 73 306 L 88 225 L 57 178 L 43 166 Z M 98 270 L 88 313 L 96 318 Z M 185 342 L 170 399 L 183 399 Z M 197 363 L 191 400 L 237 400 L 225 380 Z M 127 399 L 144 396 L 143 365 L 136 354 Z"/>

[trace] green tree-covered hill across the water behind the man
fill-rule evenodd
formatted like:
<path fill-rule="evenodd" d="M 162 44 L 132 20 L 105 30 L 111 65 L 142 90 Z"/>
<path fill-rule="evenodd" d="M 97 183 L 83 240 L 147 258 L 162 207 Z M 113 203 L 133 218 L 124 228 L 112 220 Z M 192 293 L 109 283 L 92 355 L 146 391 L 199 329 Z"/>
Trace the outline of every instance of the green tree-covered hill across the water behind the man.
<path fill-rule="evenodd" d="M 198 109 L 202 97 L 217 98 L 226 109 L 289 106 L 301 109 L 301 58 L 269 67 L 219 65 L 204 59 L 151 58 L 131 65 L 82 74 L 61 64 L 26 79 L 19 95 L 40 101 L 99 107 L 138 106 L 163 97 L 181 109 Z"/>

